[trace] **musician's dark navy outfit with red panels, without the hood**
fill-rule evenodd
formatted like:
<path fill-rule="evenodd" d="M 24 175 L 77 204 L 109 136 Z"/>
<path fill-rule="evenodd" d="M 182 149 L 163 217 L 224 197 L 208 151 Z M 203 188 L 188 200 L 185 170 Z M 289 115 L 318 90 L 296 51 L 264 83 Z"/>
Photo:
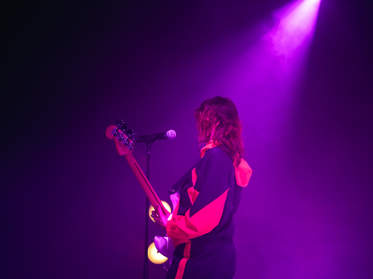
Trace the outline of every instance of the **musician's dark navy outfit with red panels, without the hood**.
<path fill-rule="evenodd" d="M 232 160 L 219 147 L 206 151 L 173 189 L 180 200 L 167 222 L 176 246 L 167 278 L 232 278 L 234 214 L 241 199 Z"/>

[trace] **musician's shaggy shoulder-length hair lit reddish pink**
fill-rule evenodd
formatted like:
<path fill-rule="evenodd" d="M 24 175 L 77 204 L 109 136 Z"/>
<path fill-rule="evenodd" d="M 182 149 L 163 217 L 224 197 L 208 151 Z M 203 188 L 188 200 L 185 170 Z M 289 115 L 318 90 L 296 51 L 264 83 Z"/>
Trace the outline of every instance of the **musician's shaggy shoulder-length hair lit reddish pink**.
<path fill-rule="evenodd" d="M 242 125 L 235 104 L 228 97 L 214 97 L 204 101 L 194 111 L 199 133 L 198 142 L 214 141 L 238 166 L 245 156 Z"/>

